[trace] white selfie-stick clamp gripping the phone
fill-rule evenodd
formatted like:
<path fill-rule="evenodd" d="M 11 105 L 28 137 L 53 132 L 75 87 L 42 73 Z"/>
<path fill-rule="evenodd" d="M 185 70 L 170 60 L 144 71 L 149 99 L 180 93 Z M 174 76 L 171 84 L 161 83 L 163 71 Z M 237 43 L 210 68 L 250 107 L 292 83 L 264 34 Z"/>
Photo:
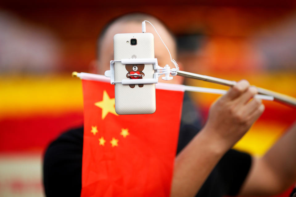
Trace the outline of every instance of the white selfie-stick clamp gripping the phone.
<path fill-rule="evenodd" d="M 114 62 L 121 62 L 122 65 L 125 64 L 153 64 L 154 67 L 154 77 L 149 79 L 122 79 L 121 82 L 114 81 Z M 172 76 L 177 75 L 177 69 L 172 68 L 169 65 L 164 67 L 158 66 L 157 58 L 143 58 L 143 59 L 121 59 L 121 61 L 111 60 L 110 61 L 110 70 L 105 71 L 105 76 L 110 77 L 111 84 L 121 83 L 123 85 L 130 85 L 130 84 L 153 84 L 158 83 L 158 77 L 164 74 L 165 76 L 162 77 L 163 80 L 171 80 Z M 139 76 L 139 75 L 137 75 Z"/>

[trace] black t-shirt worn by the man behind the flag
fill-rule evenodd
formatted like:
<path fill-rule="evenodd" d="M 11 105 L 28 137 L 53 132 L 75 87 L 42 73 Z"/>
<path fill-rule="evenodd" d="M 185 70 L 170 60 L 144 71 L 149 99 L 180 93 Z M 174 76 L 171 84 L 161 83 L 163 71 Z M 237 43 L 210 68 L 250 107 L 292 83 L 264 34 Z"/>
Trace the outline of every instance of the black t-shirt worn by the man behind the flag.
<path fill-rule="evenodd" d="M 200 130 L 199 115 L 184 95 L 177 154 Z M 83 127 L 63 133 L 44 155 L 43 183 L 47 197 L 80 196 Z M 197 197 L 236 195 L 249 172 L 251 156 L 229 150 L 213 169 Z"/>

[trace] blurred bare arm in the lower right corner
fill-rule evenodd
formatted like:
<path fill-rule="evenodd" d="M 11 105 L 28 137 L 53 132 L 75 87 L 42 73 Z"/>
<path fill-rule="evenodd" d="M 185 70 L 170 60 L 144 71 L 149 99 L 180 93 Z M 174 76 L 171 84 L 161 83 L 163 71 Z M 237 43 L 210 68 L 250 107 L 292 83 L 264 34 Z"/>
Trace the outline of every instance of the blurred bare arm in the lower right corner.
<path fill-rule="evenodd" d="M 253 159 L 240 195 L 276 195 L 296 181 L 296 123 L 262 157 Z"/>

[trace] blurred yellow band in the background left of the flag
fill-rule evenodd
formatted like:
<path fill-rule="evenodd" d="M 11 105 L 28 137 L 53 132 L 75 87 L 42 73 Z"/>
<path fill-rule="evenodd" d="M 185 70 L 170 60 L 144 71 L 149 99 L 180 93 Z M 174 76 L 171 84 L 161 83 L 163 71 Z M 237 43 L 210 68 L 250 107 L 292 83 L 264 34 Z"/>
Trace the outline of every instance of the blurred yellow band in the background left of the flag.
<path fill-rule="evenodd" d="M 82 111 L 81 80 L 67 75 L 1 76 L 0 118 Z"/>

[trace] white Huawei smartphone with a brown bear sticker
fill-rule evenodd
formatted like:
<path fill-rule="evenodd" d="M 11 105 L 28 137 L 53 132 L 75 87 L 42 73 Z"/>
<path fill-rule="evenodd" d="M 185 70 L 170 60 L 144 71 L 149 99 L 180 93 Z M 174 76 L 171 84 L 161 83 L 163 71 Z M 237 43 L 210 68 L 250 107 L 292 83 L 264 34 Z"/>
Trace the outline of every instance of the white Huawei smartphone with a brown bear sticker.
<path fill-rule="evenodd" d="M 154 36 L 151 33 L 114 35 L 114 60 L 154 58 Z M 139 75 L 139 76 L 137 76 Z M 153 64 L 114 63 L 114 80 L 153 78 Z M 155 84 L 115 84 L 117 114 L 152 114 L 156 110 Z"/>

